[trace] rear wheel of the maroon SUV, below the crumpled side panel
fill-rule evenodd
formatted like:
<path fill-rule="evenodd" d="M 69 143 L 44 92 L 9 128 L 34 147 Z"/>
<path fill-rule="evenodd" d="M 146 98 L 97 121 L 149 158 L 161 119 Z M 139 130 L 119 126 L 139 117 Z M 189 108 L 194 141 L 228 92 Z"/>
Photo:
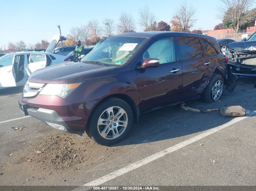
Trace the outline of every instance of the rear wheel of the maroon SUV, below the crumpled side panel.
<path fill-rule="evenodd" d="M 224 79 L 221 75 L 214 74 L 209 81 L 209 84 L 204 89 L 201 97 L 204 102 L 212 103 L 217 100 L 222 95 L 224 88 Z"/>

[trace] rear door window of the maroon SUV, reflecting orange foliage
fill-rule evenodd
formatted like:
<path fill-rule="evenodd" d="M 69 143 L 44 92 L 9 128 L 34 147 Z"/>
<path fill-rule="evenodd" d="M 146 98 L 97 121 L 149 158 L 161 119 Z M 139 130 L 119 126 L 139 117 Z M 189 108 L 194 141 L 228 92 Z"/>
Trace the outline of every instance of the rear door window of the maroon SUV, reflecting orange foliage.
<path fill-rule="evenodd" d="M 198 38 L 178 37 L 180 59 L 188 60 L 203 56 L 203 50 Z"/>

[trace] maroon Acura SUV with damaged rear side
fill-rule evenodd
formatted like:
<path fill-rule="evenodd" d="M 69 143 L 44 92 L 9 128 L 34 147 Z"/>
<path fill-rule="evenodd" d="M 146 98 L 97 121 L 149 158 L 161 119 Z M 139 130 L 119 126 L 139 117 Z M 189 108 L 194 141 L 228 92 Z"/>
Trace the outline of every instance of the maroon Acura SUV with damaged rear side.
<path fill-rule="evenodd" d="M 139 115 L 202 97 L 214 102 L 233 91 L 215 38 L 145 32 L 108 37 L 81 62 L 30 75 L 19 106 L 25 115 L 62 131 L 87 134 L 102 145 L 123 140 Z"/>

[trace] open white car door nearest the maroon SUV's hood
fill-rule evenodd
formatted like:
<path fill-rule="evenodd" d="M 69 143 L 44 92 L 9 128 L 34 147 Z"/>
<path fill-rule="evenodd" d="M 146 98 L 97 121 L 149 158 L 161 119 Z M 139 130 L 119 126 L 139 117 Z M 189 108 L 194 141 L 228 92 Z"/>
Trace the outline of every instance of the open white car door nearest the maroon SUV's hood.
<path fill-rule="evenodd" d="M 26 71 L 28 76 L 40 68 L 46 66 L 47 60 L 46 55 L 42 53 L 31 53 L 28 59 L 28 65 Z"/>

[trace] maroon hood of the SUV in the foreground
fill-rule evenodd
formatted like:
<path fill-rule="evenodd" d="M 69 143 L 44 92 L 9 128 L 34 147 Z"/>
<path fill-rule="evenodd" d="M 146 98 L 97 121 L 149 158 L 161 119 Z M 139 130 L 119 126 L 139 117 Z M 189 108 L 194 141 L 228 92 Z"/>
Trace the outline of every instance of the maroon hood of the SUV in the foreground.
<path fill-rule="evenodd" d="M 33 72 L 28 81 L 37 83 L 76 83 L 95 77 L 96 73 L 105 72 L 113 67 L 83 62 L 66 62 L 48 66 Z M 97 75 L 98 77 L 98 75 Z"/>

